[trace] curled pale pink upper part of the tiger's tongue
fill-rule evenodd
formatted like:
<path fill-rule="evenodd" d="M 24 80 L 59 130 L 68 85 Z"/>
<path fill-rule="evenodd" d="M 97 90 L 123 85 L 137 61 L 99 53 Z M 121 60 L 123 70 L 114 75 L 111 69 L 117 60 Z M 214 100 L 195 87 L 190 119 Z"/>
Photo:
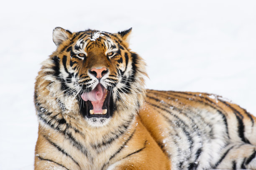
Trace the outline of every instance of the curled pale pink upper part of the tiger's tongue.
<path fill-rule="evenodd" d="M 84 101 L 90 100 L 90 101 L 99 101 L 102 99 L 103 91 L 100 84 L 98 84 L 95 89 L 90 91 L 89 93 L 83 93 L 81 94 L 81 97 Z"/>

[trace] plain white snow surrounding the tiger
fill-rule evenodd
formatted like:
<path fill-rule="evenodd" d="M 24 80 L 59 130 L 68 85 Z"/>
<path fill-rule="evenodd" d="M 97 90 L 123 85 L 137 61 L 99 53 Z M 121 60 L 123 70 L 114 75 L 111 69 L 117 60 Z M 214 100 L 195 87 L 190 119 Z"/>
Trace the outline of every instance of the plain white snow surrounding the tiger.
<path fill-rule="evenodd" d="M 149 89 L 222 95 L 256 115 L 255 0 L 9 0 L 0 5 L 0 170 L 32 170 L 35 77 L 52 30 L 133 27 Z"/>

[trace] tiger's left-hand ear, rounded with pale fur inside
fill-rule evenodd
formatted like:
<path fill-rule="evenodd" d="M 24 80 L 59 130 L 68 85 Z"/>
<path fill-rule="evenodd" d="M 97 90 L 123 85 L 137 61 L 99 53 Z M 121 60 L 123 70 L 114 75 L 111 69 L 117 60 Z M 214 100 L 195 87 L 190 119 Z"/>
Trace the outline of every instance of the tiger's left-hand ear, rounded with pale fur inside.
<path fill-rule="evenodd" d="M 59 46 L 63 41 L 67 40 L 72 36 L 72 32 L 65 30 L 61 27 L 56 27 L 52 33 L 52 39 L 56 46 Z"/>

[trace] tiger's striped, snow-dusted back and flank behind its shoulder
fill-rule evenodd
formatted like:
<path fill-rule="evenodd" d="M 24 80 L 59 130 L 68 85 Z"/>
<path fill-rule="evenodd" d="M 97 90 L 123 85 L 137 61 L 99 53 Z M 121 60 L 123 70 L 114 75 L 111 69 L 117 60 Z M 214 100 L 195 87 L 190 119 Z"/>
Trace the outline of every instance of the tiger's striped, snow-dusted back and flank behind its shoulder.
<path fill-rule="evenodd" d="M 255 169 L 256 118 L 221 96 L 147 90 L 139 116 L 175 169 Z"/>

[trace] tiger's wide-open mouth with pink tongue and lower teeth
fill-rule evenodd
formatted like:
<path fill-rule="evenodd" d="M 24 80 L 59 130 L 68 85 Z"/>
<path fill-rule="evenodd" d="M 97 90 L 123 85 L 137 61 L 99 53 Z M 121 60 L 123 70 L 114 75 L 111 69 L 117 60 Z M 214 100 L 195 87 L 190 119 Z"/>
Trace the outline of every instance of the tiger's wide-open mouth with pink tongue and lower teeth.
<path fill-rule="evenodd" d="M 110 117 L 110 91 L 102 84 L 97 84 L 92 91 L 81 94 L 80 112 L 88 118 Z"/>

